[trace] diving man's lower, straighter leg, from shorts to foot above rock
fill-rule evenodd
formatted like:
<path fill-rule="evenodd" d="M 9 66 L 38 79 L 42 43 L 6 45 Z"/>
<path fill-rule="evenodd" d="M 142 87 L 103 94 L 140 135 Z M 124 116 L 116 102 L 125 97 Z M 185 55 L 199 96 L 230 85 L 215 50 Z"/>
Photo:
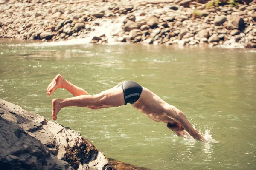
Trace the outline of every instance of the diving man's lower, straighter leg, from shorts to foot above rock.
<path fill-rule="evenodd" d="M 71 92 L 70 92 L 71 93 Z M 100 94 L 80 95 L 67 99 L 53 99 L 52 100 L 52 119 L 57 119 L 57 114 L 61 108 L 68 106 L 88 107 L 88 108 L 108 108 L 118 107 L 124 105 L 124 95 L 122 88 L 111 88 Z"/>

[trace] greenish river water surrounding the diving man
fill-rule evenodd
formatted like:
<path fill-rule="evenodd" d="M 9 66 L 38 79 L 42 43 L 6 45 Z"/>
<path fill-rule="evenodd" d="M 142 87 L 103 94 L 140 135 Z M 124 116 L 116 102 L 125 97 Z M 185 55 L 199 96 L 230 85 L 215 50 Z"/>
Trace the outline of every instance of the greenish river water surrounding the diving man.
<path fill-rule="evenodd" d="M 108 158 L 152 170 L 256 168 L 256 51 L 162 45 L 57 45 L 0 41 L 0 98 L 51 119 L 48 84 L 61 74 L 89 94 L 133 80 L 183 111 L 209 142 L 175 136 L 131 105 L 69 107 L 57 122 Z"/>

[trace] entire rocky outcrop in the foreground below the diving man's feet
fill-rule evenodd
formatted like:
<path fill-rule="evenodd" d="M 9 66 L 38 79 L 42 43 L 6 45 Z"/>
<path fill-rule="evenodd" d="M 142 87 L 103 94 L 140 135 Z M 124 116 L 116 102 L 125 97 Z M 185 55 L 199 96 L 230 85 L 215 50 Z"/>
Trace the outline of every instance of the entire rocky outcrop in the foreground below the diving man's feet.
<path fill-rule="evenodd" d="M 79 133 L 0 99 L 2 170 L 148 170 L 113 159 Z"/>

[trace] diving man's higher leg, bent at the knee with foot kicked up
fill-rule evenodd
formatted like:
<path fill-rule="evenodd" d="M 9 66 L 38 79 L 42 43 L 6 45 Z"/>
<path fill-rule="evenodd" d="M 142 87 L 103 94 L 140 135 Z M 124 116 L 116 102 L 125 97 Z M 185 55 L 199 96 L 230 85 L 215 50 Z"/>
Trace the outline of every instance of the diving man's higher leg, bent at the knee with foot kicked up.
<path fill-rule="evenodd" d="M 80 96 L 80 95 L 89 95 L 87 91 L 82 88 L 73 85 L 72 83 L 68 82 L 64 79 L 61 75 L 57 75 L 52 82 L 48 85 L 47 92 L 49 96 L 58 88 L 64 88 L 69 91 L 73 96 Z"/>

